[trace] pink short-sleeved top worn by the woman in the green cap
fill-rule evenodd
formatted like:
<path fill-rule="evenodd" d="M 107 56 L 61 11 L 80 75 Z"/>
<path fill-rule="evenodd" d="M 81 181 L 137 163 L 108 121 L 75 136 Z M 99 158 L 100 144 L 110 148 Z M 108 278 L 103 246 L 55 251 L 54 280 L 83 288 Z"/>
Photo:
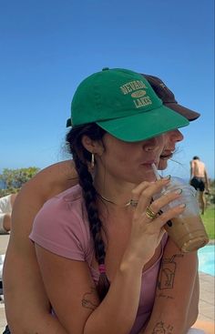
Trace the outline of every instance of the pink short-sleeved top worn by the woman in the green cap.
<path fill-rule="evenodd" d="M 69 188 L 46 202 L 36 215 L 29 238 L 59 256 L 86 261 L 97 284 L 99 273 L 92 268 L 93 240 L 79 186 Z M 159 263 L 167 238 L 165 234 L 161 241 L 159 259 L 142 274 L 138 313 L 130 334 L 137 334 L 150 316 L 155 299 Z"/>

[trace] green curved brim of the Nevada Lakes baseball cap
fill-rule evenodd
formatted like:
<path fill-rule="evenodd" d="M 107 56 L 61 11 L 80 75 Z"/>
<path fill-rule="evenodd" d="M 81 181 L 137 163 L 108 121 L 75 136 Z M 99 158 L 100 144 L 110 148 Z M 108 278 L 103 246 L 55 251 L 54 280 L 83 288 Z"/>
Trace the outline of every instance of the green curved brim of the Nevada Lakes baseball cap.
<path fill-rule="evenodd" d="M 136 142 L 157 137 L 179 127 L 186 127 L 189 121 L 168 107 L 160 106 L 133 116 L 99 121 L 97 125 L 120 140 Z"/>

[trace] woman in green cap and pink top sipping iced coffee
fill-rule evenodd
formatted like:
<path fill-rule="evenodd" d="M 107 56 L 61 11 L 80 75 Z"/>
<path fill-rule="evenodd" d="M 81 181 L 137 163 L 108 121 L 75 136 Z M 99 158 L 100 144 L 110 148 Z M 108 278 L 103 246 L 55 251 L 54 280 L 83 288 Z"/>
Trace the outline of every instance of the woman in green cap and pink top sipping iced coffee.
<path fill-rule="evenodd" d="M 67 143 L 80 186 L 46 202 L 30 235 L 68 333 L 187 333 L 197 257 L 181 254 L 165 233 L 185 204 L 158 215 L 180 194 L 152 200 L 169 178 L 155 182 L 151 164 L 158 165 L 163 134 L 188 124 L 134 72 L 107 69 L 78 86 Z M 177 266 L 164 290 L 161 258 Z"/>

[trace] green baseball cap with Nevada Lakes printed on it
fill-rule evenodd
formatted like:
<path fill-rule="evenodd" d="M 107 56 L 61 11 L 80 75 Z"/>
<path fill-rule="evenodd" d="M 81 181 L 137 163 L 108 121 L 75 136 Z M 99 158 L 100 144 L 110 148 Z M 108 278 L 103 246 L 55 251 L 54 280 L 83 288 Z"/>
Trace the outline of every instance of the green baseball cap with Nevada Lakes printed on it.
<path fill-rule="evenodd" d="M 163 105 L 144 76 L 107 67 L 83 80 L 73 97 L 67 127 L 88 123 L 128 142 L 189 125 L 187 118 Z"/>

